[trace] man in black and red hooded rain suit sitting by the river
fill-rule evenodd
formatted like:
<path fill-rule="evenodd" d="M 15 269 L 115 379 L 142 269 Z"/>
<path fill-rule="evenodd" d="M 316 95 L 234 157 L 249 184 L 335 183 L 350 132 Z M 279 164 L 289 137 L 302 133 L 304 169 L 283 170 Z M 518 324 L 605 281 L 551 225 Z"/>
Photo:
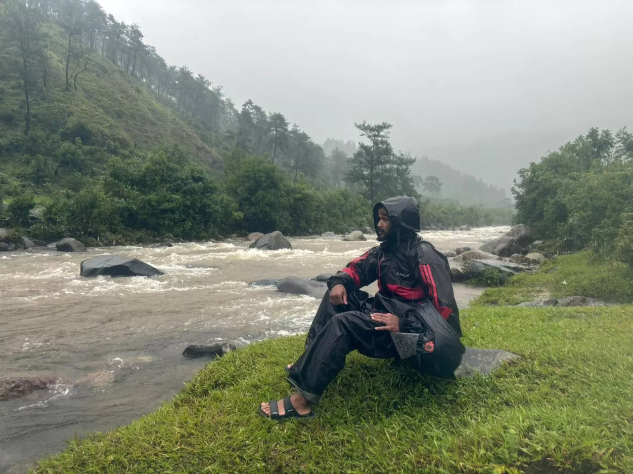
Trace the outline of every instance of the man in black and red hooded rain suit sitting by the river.
<path fill-rule="evenodd" d="M 400 196 L 373 208 L 379 246 L 327 282 L 305 351 L 286 367 L 292 396 L 262 403 L 275 420 L 314 416 L 311 409 L 354 349 L 374 358 L 406 360 L 423 374 L 454 378 L 465 348 L 448 260 L 422 240 L 420 208 Z M 378 280 L 370 298 L 360 288 Z"/>

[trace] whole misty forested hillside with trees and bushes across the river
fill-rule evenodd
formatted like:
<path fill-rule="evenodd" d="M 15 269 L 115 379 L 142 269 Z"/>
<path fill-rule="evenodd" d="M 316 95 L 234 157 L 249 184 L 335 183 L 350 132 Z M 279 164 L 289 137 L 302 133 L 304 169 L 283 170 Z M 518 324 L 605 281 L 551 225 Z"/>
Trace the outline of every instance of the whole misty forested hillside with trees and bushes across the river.
<path fill-rule="evenodd" d="M 326 155 L 282 113 L 237 109 L 221 85 L 167 64 L 93 0 L 0 1 L 0 65 L 0 226 L 88 242 L 304 234 L 417 196 L 390 124 L 356 124 L 354 154 Z M 475 208 L 449 220 L 464 214 L 499 220 Z"/>

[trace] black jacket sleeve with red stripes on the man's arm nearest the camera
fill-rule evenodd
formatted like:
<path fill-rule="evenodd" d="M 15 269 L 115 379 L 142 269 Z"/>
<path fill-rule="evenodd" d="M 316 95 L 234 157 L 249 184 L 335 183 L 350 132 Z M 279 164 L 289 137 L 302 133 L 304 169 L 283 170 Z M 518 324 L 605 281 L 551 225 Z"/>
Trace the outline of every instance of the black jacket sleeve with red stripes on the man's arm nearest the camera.
<path fill-rule="evenodd" d="M 448 261 L 442 258 L 434 248 L 420 245 L 415 255 L 415 267 L 418 278 L 420 278 L 420 286 L 425 290 L 430 303 L 444 320 L 448 320 L 453 313 L 459 314 Z M 419 332 L 421 330 L 422 324 L 417 318 L 405 316 L 400 320 L 401 332 Z"/>

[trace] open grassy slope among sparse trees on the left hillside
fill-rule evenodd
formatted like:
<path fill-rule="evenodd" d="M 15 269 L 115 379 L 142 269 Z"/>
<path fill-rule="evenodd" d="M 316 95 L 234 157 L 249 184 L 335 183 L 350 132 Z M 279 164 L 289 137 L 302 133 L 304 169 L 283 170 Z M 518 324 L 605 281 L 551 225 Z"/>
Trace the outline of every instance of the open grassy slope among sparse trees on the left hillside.
<path fill-rule="evenodd" d="M 0 13 L 1 14 L 1 13 Z M 30 140 L 23 138 L 25 94 L 15 76 L 0 73 L 0 155 L 8 164 L 20 152 L 28 154 L 34 141 L 58 142 L 82 138 L 84 145 L 122 150 L 178 145 L 205 162 L 218 155 L 173 107 L 160 104 L 142 82 L 122 71 L 98 51 L 89 52 L 88 70 L 77 77 L 77 90 L 66 90 L 67 35 L 54 21 L 42 25 L 46 33 L 47 85 L 31 94 Z M 3 63 L 11 63 L 16 49 L 7 49 Z M 15 164 L 15 163 L 14 163 Z"/>

